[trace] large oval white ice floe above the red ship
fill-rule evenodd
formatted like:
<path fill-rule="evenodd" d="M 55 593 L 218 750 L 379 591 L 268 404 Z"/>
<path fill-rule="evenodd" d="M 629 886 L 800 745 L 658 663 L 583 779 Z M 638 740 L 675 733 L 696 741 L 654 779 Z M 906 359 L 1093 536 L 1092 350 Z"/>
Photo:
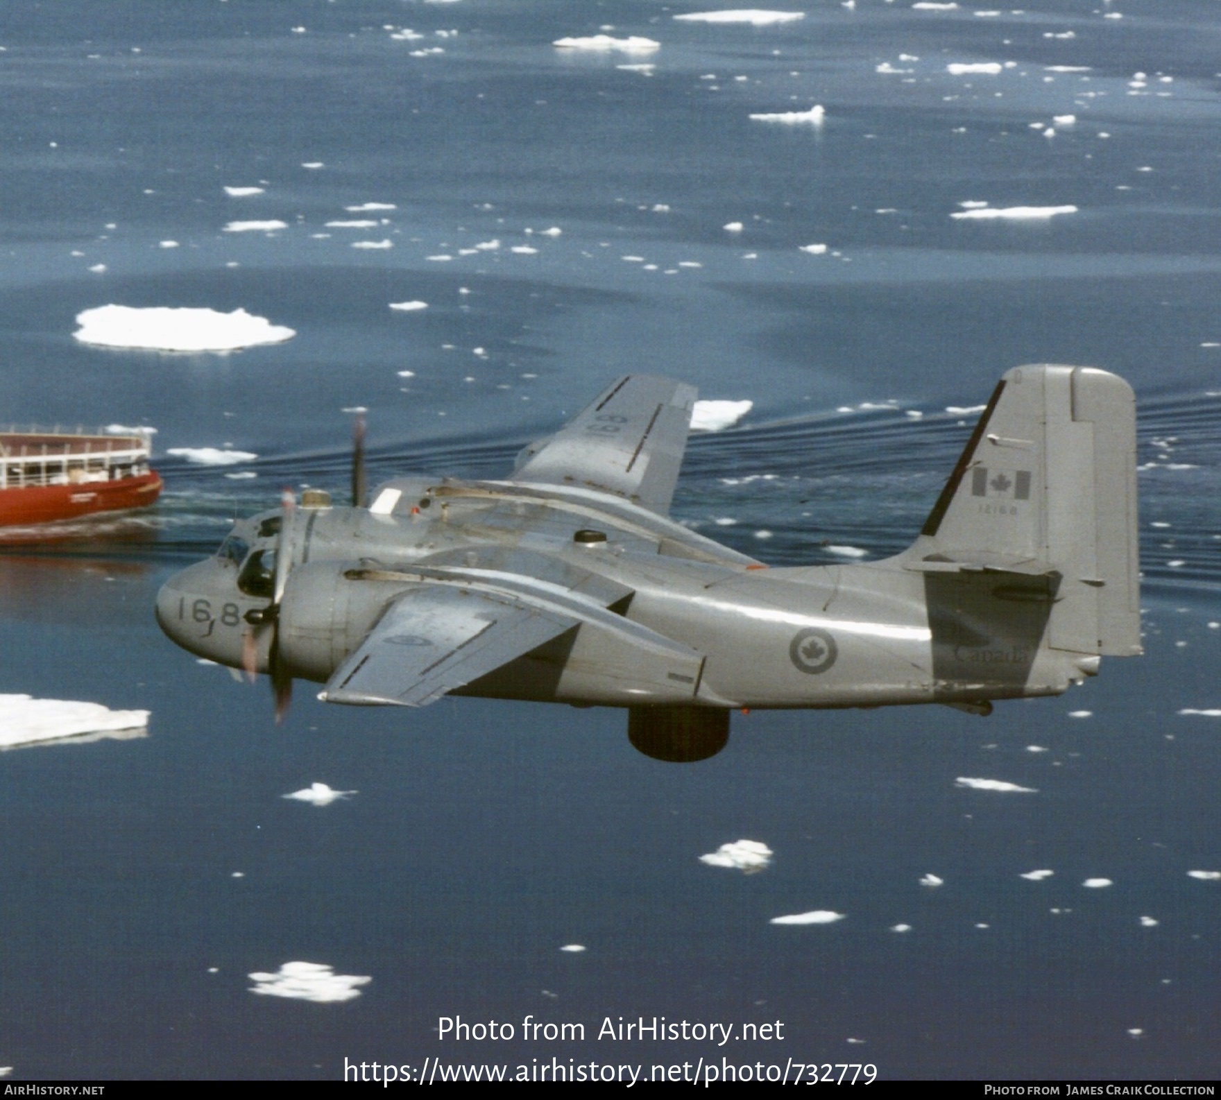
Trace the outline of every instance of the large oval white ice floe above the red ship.
<path fill-rule="evenodd" d="M 73 336 L 82 343 L 160 352 L 232 352 L 281 343 L 297 335 L 244 309 L 223 314 L 214 309 L 100 305 L 77 314 L 77 324 L 81 327 Z"/>

